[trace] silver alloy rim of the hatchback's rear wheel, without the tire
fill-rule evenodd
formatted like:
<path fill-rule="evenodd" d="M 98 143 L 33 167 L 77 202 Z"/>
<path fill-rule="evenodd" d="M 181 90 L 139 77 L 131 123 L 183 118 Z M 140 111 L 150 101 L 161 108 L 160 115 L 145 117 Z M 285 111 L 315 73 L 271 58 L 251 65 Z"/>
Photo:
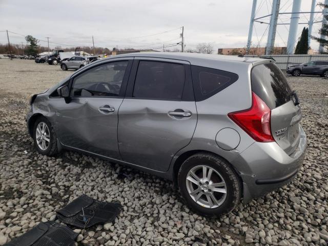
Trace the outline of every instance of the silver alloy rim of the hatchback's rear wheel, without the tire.
<path fill-rule="evenodd" d="M 215 209 L 227 198 L 226 182 L 208 166 L 192 168 L 187 174 L 186 186 L 191 198 L 204 208 Z"/>

